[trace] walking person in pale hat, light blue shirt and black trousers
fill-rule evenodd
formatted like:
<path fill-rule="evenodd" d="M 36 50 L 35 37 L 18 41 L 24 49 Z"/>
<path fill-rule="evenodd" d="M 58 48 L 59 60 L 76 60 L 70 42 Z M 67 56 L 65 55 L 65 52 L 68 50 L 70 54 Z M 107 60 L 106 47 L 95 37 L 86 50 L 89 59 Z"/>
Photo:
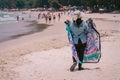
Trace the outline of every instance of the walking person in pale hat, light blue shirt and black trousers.
<path fill-rule="evenodd" d="M 88 25 L 85 21 L 81 19 L 81 13 L 79 10 L 74 12 L 73 22 L 69 20 L 66 21 L 69 24 L 73 42 L 75 44 L 75 48 L 77 51 L 78 58 L 81 62 L 83 62 L 84 51 L 87 43 L 87 33 L 89 31 Z M 70 67 L 70 71 L 74 71 L 77 66 L 77 61 L 73 57 L 73 65 Z M 78 64 L 78 70 L 83 70 L 82 64 Z"/>

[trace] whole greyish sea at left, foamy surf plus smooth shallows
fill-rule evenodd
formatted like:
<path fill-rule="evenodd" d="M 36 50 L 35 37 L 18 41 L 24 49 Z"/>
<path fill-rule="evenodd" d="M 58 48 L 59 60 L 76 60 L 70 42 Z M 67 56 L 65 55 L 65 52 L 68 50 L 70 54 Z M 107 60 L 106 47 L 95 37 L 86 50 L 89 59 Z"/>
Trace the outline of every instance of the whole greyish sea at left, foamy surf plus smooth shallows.
<path fill-rule="evenodd" d="M 20 21 L 17 21 L 16 16 L 19 16 Z M 24 21 L 22 21 L 24 18 Z M 37 15 L 23 13 L 7 13 L 0 12 L 0 42 L 13 39 L 16 35 L 24 35 L 36 29 L 35 25 L 30 27 L 33 20 L 37 19 Z"/>

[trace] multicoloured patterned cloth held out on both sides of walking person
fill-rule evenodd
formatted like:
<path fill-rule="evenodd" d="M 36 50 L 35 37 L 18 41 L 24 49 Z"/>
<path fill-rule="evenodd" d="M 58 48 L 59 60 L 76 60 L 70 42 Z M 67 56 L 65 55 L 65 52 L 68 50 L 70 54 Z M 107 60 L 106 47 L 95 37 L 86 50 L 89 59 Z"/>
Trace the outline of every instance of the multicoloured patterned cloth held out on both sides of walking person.
<path fill-rule="evenodd" d="M 87 46 L 84 52 L 83 63 L 97 63 L 101 58 L 100 34 L 95 29 L 95 25 L 90 24 L 89 21 L 90 19 L 86 20 L 87 24 L 89 25 L 90 31 L 87 33 Z M 66 24 L 66 31 L 68 33 L 68 39 L 72 49 L 72 55 L 78 63 L 82 64 L 82 62 L 79 60 L 77 56 L 77 51 L 73 42 L 69 24 Z"/>

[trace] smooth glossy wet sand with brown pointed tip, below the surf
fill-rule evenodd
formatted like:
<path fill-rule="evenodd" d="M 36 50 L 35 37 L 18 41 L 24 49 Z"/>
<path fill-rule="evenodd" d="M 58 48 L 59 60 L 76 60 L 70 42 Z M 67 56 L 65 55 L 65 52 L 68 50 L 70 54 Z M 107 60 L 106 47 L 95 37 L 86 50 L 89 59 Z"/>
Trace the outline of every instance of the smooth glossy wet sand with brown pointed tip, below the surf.
<path fill-rule="evenodd" d="M 12 40 L 21 36 L 41 32 L 47 24 L 37 24 L 37 21 L 19 21 L 0 24 L 0 42 Z"/>

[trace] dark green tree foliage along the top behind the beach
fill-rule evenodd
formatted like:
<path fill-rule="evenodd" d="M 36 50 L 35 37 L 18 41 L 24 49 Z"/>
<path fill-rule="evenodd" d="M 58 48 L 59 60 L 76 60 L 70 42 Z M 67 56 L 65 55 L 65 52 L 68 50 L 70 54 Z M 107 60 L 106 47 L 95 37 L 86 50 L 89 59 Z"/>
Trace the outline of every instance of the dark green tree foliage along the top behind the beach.
<path fill-rule="evenodd" d="M 61 6 L 106 7 L 120 9 L 120 0 L 0 0 L 0 8 L 37 8 Z"/>

